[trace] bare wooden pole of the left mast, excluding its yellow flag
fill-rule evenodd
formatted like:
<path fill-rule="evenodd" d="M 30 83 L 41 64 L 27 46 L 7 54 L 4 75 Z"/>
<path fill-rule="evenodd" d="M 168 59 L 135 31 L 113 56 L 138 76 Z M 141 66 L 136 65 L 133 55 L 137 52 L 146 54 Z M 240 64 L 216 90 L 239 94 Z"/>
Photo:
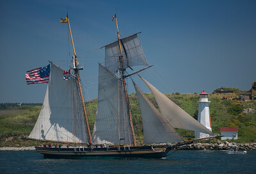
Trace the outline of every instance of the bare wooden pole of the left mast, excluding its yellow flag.
<path fill-rule="evenodd" d="M 88 139 L 89 139 L 89 143 L 92 145 L 92 136 L 91 136 L 91 131 L 90 131 L 89 123 L 88 123 L 88 117 L 87 117 L 87 114 L 86 114 L 86 109 L 85 109 L 85 104 L 84 104 L 83 91 L 82 91 L 82 88 L 81 88 L 80 77 L 79 77 L 79 67 L 78 67 L 74 42 L 73 42 L 73 38 L 72 38 L 71 28 L 70 28 L 70 24 L 69 24 L 69 19 L 68 19 L 68 28 L 69 28 L 69 31 L 70 31 L 70 37 L 71 37 L 71 40 L 72 40 L 72 46 L 73 46 L 73 51 L 74 51 L 74 59 L 75 59 L 75 62 L 76 62 L 75 73 L 76 73 L 76 78 L 77 78 L 77 83 L 78 83 L 78 88 L 79 88 L 82 104 L 83 104 L 83 113 L 84 113 L 84 119 L 85 119 L 86 128 L 87 128 Z"/>

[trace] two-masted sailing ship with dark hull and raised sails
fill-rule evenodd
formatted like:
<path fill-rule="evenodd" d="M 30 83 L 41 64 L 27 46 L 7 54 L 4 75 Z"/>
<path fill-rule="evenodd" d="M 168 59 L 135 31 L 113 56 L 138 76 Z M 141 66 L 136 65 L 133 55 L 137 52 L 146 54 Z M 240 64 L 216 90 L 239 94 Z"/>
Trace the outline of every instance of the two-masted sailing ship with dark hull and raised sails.
<path fill-rule="evenodd" d="M 166 157 L 175 146 L 186 145 L 193 141 L 184 141 L 175 128 L 214 134 L 204 125 L 188 115 L 168 99 L 163 93 L 140 79 L 152 92 L 159 110 L 150 102 L 138 85 L 132 81 L 138 97 L 143 120 L 143 143 L 136 142 L 132 113 L 129 106 L 126 78 L 138 75 L 147 69 L 148 63 L 141 49 L 138 33 L 120 38 L 116 15 L 118 40 L 105 45 L 105 65 L 99 63 L 99 89 L 97 114 L 91 135 L 83 91 L 79 77 L 79 64 L 72 39 L 68 17 L 67 22 L 74 56 L 72 57 L 74 75 L 69 81 L 63 81 L 63 69 L 51 62 L 49 83 L 44 104 L 35 127 L 28 139 L 53 143 L 72 143 L 74 146 L 49 148 L 36 146 L 37 152 L 44 157 Z M 126 69 L 143 65 L 146 68 L 127 74 Z M 154 144 L 153 144 L 154 143 Z M 158 145 L 156 145 L 158 143 Z M 166 144 L 159 144 L 166 143 Z M 174 143 L 173 145 L 167 143 Z M 104 145 L 103 147 L 95 145 Z"/>

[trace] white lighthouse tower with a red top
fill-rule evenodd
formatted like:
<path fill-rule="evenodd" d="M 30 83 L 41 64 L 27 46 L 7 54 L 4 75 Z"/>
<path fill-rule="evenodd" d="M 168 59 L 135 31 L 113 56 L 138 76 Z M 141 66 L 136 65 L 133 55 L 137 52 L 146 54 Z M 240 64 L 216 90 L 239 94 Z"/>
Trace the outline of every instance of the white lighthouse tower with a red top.
<path fill-rule="evenodd" d="M 208 93 L 205 93 L 205 91 L 202 91 L 200 93 L 200 98 L 198 101 L 198 122 L 200 122 L 202 125 L 204 125 L 207 129 L 212 131 L 211 128 L 211 115 L 210 115 L 210 109 L 209 104 L 211 102 L 208 100 Z M 195 138 L 205 138 L 208 137 L 209 134 L 204 134 L 202 132 L 195 132 Z"/>

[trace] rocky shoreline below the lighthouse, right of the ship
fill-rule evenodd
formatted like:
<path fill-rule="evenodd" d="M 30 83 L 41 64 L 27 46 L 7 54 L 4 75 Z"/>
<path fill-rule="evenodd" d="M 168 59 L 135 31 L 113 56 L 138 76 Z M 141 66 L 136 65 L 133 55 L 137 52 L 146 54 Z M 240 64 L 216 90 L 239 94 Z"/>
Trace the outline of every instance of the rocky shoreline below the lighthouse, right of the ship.
<path fill-rule="evenodd" d="M 229 150 L 231 146 L 237 146 L 239 150 L 256 150 L 256 143 L 228 143 L 228 141 L 217 141 L 217 143 L 193 143 L 190 145 L 183 145 L 176 150 Z"/>

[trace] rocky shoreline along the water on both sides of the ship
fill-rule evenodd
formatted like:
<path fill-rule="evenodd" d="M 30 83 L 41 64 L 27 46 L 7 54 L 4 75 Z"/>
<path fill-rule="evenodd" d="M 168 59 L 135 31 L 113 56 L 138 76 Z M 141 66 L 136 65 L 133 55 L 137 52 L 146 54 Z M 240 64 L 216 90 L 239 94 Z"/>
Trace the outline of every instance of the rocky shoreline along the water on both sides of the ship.
<path fill-rule="evenodd" d="M 217 143 L 193 143 L 174 148 L 175 150 L 229 150 L 231 146 L 237 146 L 239 150 L 256 150 L 256 143 L 228 143 L 218 141 Z M 0 151 L 23 151 L 35 150 L 34 146 L 28 147 L 0 147 Z"/>

